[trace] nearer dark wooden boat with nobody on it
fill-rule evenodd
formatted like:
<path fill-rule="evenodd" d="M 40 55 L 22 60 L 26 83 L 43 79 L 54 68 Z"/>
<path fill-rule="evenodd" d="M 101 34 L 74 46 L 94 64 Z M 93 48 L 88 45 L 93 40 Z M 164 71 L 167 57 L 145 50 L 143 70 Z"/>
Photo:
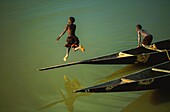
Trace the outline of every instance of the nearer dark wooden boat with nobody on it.
<path fill-rule="evenodd" d="M 101 93 L 150 90 L 168 87 L 169 81 L 170 61 L 166 61 L 136 73 L 74 92 Z"/>

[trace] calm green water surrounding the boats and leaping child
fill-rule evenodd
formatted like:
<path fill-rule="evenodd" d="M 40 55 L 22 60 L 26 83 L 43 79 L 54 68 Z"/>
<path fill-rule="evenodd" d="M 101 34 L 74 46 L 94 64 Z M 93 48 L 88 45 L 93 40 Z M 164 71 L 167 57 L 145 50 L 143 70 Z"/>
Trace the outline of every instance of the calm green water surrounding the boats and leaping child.
<path fill-rule="evenodd" d="M 36 69 L 64 63 L 67 36 L 58 43 L 55 39 L 69 16 L 76 18 L 76 34 L 86 48 L 85 53 L 71 51 L 71 62 L 136 47 L 138 23 L 154 35 L 154 42 L 168 39 L 169 5 L 169 0 L 0 0 L 0 111 L 129 111 L 131 108 L 126 107 L 134 102 L 140 104 L 138 98 L 147 91 L 73 94 L 72 90 L 120 77 L 139 67 L 78 65 L 46 72 Z"/>

